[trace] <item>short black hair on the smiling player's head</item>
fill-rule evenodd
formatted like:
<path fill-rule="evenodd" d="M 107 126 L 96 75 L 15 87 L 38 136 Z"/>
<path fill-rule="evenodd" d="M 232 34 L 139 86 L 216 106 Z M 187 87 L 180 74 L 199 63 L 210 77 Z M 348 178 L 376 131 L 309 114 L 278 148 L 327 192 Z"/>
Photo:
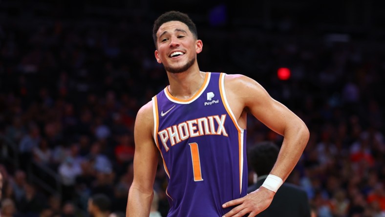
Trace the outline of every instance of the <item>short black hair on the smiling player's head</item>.
<path fill-rule="evenodd" d="M 170 21 L 179 21 L 179 22 L 185 23 L 189 27 L 189 30 L 194 35 L 195 39 L 198 39 L 198 32 L 196 30 L 195 23 L 192 22 L 189 15 L 182 13 L 182 12 L 179 12 L 179 11 L 168 11 L 168 12 L 160 15 L 155 20 L 154 25 L 152 27 L 152 38 L 154 40 L 155 47 L 156 47 L 156 41 L 157 41 L 156 32 L 158 31 L 159 27 L 163 23 L 170 22 Z"/>

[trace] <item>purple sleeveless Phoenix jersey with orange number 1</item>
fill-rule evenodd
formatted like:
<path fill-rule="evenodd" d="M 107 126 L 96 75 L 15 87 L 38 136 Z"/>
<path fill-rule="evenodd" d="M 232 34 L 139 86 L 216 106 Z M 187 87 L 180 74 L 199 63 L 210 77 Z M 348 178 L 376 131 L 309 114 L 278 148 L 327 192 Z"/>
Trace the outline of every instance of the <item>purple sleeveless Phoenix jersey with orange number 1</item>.
<path fill-rule="evenodd" d="M 167 173 L 168 217 L 221 217 L 247 193 L 246 130 L 226 100 L 224 73 L 206 73 L 189 100 L 152 98 L 154 140 Z"/>

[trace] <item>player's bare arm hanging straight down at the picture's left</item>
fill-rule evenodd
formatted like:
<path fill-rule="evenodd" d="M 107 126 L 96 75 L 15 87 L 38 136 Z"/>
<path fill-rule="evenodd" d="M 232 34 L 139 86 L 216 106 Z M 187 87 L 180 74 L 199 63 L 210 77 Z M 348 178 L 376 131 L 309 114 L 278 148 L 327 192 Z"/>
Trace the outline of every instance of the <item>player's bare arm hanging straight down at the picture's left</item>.
<path fill-rule="evenodd" d="M 152 104 L 143 106 L 136 116 L 134 127 L 134 179 L 128 192 L 127 217 L 148 217 L 153 197 L 153 184 L 158 163 L 154 143 Z"/>

